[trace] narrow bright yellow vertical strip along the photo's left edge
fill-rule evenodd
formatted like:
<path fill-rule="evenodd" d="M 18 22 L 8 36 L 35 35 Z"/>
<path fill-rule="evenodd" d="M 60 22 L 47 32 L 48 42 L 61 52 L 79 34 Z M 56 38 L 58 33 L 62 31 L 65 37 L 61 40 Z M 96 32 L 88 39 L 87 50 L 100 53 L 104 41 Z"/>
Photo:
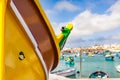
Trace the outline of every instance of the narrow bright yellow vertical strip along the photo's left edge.
<path fill-rule="evenodd" d="M 4 0 L 0 0 L 0 80 L 4 75 Z"/>

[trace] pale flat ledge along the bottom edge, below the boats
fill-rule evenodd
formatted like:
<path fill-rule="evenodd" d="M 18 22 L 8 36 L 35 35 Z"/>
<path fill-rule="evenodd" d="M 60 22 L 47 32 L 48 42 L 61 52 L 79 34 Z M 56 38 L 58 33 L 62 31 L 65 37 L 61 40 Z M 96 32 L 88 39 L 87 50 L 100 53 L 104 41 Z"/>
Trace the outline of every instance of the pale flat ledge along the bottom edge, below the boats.
<path fill-rule="evenodd" d="M 101 78 L 98 78 L 98 79 L 80 78 L 80 79 L 70 79 L 70 78 L 65 78 L 65 77 L 62 77 L 62 76 L 55 75 L 55 74 L 50 74 L 49 75 L 49 80 L 120 80 L 120 78 L 106 78 L 106 79 L 101 79 Z"/>

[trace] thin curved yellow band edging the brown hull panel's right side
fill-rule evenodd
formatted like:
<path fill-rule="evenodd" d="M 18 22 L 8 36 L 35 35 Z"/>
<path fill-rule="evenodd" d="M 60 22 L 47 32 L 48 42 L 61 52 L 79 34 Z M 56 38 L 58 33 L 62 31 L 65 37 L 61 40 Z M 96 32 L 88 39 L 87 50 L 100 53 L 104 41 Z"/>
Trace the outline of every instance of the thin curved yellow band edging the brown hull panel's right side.
<path fill-rule="evenodd" d="M 56 48 L 57 48 L 57 51 L 58 51 L 58 59 L 59 59 L 59 58 L 60 58 L 60 47 L 59 47 L 59 42 L 58 42 L 58 40 L 57 40 L 57 37 L 56 37 L 56 35 L 54 34 L 54 31 L 53 31 L 53 29 L 52 29 L 52 26 L 51 26 L 51 24 L 50 24 L 47 16 L 45 15 L 45 13 L 44 13 L 44 11 L 43 11 L 42 6 L 40 5 L 40 2 L 39 2 L 38 0 L 34 0 L 34 1 L 35 1 L 35 3 L 36 3 L 37 7 L 39 8 L 40 13 L 42 14 L 42 16 L 43 16 L 43 18 L 44 18 L 44 20 L 45 20 L 45 22 L 46 22 L 46 24 L 47 24 L 50 32 L 51 32 L 52 38 L 53 38 L 53 40 L 54 40 L 54 42 L 55 42 L 55 45 L 56 45 Z"/>

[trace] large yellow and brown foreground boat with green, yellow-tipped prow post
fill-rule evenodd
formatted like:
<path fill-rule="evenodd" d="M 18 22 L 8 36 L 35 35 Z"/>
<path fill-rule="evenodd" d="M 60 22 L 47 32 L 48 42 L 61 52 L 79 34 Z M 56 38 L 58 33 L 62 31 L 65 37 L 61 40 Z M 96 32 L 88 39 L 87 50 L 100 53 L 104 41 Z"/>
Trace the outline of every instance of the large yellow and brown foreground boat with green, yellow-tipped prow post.
<path fill-rule="evenodd" d="M 72 24 L 56 36 L 38 0 L 1 0 L 0 11 L 0 80 L 47 80 Z"/>

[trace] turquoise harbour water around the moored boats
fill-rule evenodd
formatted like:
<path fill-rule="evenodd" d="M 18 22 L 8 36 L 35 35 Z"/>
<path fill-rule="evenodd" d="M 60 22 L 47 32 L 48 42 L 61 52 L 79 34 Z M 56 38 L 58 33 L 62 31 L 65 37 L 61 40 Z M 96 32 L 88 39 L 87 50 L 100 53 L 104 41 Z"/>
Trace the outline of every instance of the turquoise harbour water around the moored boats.
<path fill-rule="evenodd" d="M 65 64 L 65 60 L 60 60 L 57 68 L 54 70 L 60 70 L 65 68 L 74 67 L 77 71 L 80 71 L 82 78 L 88 78 L 89 74 L 101 70 L 109 74 L 110 78 L 120 78 L 120 73 L 116 71 L 115 66 L 120 64 L 118 57 L 114 58 L 114 61 L 106 61 L 104 56 L 89 57 L 82 55 L 82 70 L 80 70 L 80 57 L 74 57 L 74 65 Z M 70 78 L 79 78 L 80 74 L 70 76 Z"/>

